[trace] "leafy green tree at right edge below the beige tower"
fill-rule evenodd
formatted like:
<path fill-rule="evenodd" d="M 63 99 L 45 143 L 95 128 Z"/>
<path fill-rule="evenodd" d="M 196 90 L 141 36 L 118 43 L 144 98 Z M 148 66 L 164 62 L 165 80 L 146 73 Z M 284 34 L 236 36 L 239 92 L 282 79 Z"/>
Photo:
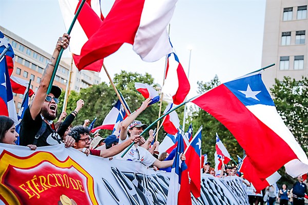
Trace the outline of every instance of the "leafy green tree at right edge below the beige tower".
<path fill-rule="evenodd" d="M 277 111 L 293 133 L 299 145 L 308 154 L 308 78 L 301 80 L 284 77 L 275 79 L 271 88 Z"/>

